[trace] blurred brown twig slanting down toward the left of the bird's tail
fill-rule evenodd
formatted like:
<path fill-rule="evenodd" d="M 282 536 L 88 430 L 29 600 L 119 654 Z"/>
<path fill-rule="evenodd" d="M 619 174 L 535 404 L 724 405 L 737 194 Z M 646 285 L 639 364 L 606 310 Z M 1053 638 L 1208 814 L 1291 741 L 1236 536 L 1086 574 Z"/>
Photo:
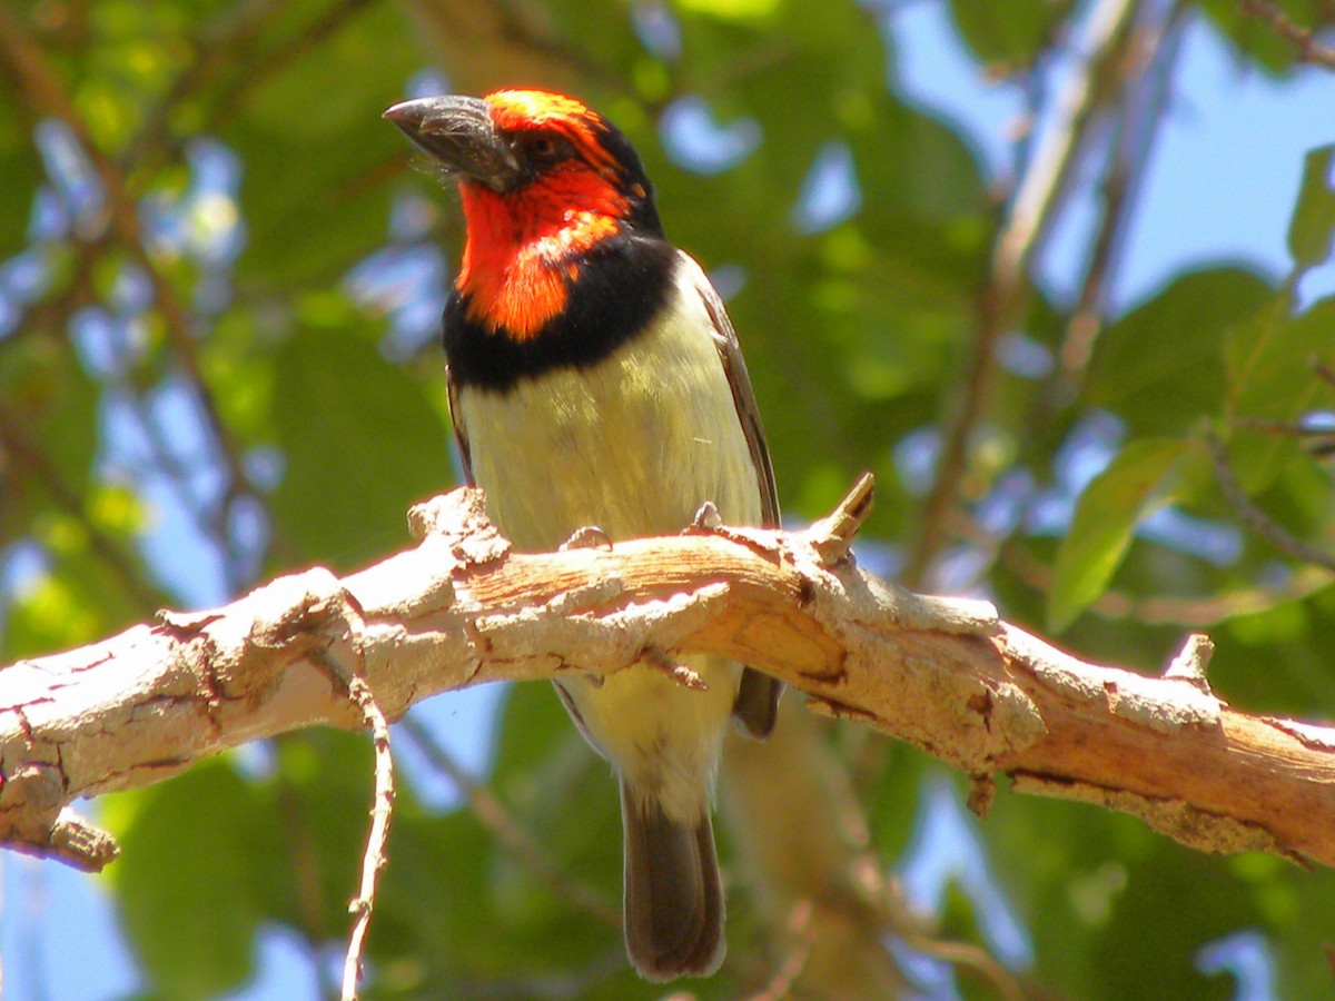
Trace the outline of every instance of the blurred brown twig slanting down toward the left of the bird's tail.
<path fill-rule="evenodd" d="M 610 928 L 621 928 L 621 912 L 598 890 L 570 877 L 542 845 L 510 815 L 510 810 L 487 786 L 470 775 L 441 745 L 431 731 L 411 714 L 398 722 L 418 750 L 441 770 L 469 802 L 469 809 L 483 827 L 499 841 L 525 868 L 585 913 Z"/>

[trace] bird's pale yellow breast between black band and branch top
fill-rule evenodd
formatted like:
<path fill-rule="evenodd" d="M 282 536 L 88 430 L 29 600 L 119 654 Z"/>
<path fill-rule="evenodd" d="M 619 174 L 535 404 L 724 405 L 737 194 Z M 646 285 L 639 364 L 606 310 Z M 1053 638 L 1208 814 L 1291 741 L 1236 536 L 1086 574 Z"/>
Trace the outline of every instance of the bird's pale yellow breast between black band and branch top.
<path fill-rule="evenodd" d="M 613 539 L 668 534 L 705 500 L 758 523 L 760 486 L 710 320 L 690 275 L 654 328 L 587 370 L 463 388 L 474 478 L 521 549 L 597 525 Z"/>

